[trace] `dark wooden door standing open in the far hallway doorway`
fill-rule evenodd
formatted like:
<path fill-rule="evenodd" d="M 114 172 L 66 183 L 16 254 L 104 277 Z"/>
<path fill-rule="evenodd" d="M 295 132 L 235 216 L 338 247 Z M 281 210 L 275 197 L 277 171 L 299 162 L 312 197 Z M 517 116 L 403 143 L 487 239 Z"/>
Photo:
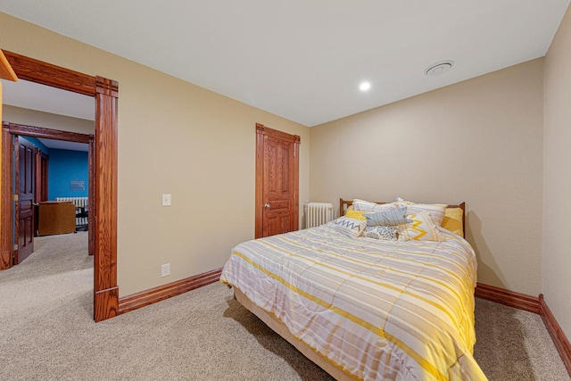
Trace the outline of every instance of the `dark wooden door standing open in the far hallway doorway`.
<path fill-rule="evenodd" d="M 14 264 L 18 264 L 34 253 L 36 173 L 34 145 L 15 137 L 18 147 L 16 156 L 16 189 L 18 200 L 16 208 L 16 234 L 18 249 L 14 250 Z"/>

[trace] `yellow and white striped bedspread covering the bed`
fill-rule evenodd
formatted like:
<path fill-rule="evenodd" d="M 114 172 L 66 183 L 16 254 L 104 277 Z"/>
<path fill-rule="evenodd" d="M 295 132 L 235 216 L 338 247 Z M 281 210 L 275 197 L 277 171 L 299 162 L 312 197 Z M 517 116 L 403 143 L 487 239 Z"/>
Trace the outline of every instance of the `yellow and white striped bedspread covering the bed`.
<path fill-rule="evenodd" d="M 472 357 L 476 257 L 444 242 L 349 238 L 331 223 L 238 244 L 220 280 L 358 379 L 486 379 Z"/>

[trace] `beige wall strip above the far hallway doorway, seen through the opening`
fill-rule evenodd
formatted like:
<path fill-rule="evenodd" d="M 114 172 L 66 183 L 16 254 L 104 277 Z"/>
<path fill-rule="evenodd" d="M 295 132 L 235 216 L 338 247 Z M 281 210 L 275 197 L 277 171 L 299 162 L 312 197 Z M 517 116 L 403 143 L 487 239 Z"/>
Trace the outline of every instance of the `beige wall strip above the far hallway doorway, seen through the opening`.
<path fill-rule="evenodd" d="M 49 112 L 24 109 L 4 104 L 3 120 L 25 126 L 59 129 L 79 134 L 94 134 L 95 122 L 69 116 L 56 115 Z"/>

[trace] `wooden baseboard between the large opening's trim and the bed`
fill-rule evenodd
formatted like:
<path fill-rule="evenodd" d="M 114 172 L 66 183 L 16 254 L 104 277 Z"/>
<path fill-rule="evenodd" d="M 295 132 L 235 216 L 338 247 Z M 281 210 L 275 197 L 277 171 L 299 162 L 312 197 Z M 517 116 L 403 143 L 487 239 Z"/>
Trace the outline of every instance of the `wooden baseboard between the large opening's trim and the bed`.
<path fill-rule="evenodd" d="M 210 285 L 219 280 L 221 273 L 222 269 L 213 269 L 194 277 L 186 277 L 185 279 L 167 285 L 154 287 L 150 290 L 122 297 L 119 299 L 119 313 L 137 310 L 149 304 L 184 294 L 190 290 L 194 290 L 194 288 Z"/>

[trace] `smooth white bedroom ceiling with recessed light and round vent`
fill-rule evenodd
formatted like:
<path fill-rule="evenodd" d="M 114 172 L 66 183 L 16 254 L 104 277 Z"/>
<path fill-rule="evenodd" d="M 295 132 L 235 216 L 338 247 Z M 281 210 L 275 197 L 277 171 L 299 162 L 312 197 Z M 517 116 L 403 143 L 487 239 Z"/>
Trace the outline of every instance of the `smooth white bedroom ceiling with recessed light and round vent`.
<path fill-rule="evenodd" d="M 315 126 L 541 57 L 568 4 L 2 0 L 0 11 Z M 452 70 L 424 74 L 443 60 Z"/>

